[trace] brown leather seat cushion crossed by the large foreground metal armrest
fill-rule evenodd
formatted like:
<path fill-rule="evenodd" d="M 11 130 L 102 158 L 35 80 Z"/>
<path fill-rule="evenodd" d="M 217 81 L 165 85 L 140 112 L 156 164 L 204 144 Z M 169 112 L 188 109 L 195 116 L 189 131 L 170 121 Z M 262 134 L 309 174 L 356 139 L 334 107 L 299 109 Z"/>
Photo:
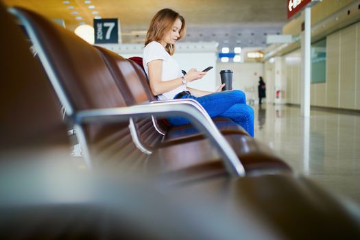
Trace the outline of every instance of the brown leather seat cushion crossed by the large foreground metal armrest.
<path fill-rule="evenodd" d="M 291 171 L 283 160 L 274 154 L 272 149 L 259 141 L 254 141 L 250 136 L 228 134 L 226 140 L 232 149 L 235 149 L 248 175 Z M 205 163 L 208 163 L 208 167 L 211 169 L 208 170 L 209 172 L 224 173 L 224 171 L 215 169 L 215 166 L 221 166 L 223 163 L 221 163 L 221 157 L 211 147 L 208 139 L 159 147 L 150 156 L 147 167 L 154 167 L 159 171 L 164 171 L 164 173 L 178 174 L 175 171 L 182 171 L 182 173 L 189 171 L 190 173 Z M 193 169 L 189 169 L 190 167 Z"/>

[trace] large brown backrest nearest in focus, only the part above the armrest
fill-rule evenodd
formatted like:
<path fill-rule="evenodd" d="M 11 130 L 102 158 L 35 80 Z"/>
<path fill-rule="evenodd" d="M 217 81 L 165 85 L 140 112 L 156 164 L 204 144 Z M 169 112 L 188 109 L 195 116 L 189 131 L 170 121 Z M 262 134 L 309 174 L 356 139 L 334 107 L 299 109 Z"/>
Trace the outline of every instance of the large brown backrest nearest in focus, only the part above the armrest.
<path fill-rule="evenodd" d="M 32 25 L 75 111 L 125 106 L 106 64 L 93 46 L 40 14 L 18 10 Z"/>

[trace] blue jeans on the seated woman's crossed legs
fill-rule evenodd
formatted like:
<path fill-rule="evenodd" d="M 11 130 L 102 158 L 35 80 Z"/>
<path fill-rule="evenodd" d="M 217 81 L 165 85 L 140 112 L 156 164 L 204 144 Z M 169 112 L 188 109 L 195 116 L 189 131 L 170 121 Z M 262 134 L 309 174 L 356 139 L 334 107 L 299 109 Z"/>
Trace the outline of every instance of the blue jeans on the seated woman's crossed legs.
<path fill-rule="evenodd" d="M 208 115 L 213 117 L 227 117 L 241 125 L 250 136 L 254 136 L 254 110 L 246 105 L 245 93 L 239 90 L 211 93 L 203 97 L 187 94 L 182 99 L 191 98 L 198 101 L 205 108 Z M 171 125 L 188 124 L 183 117 L 168 117 Z"/>

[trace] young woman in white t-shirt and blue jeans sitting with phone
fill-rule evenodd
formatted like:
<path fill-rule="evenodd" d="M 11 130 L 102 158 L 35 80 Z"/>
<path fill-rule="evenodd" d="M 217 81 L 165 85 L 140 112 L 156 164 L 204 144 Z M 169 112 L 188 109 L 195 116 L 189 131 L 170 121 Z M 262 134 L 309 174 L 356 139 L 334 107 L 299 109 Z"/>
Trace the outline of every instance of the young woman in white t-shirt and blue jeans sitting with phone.
<path fill-rule="evenodd" d="M 171 56 L 175 52 L 175 43 L 186 31 L 185 20 L 178 12 L 163 9 L 152 19 L 145 40 L 143 66 L 149 77 L 152 93 L 158 99 L 197 100 L 210 117 L 227 117 L 241 125 L 254 136 L 254 110 L 246 105 L 242 91 L 223 91 L 222 84 L 215 93 L 187 87 L 188 82 L 199 80 L 206 72 L 191 69 L 182 75 L 180 66 Z M 189 123 L 182 117 L 169 117 L 171 125 Z"/>

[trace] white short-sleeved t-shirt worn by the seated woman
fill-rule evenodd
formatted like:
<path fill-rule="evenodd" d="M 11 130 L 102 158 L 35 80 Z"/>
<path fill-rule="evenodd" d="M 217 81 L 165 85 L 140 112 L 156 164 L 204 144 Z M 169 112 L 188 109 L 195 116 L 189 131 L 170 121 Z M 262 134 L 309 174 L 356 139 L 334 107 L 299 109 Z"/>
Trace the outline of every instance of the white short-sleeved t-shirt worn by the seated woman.
<path fill-rule="evenodd" d="M 149 71 L 147 69 L 147 64 L 154 60 L 163 60 L 163 71 L 161 73 L 161 81 L 174 80 L 182 76 L 182 72 L 178 62 L 173 59 L 172 56 L 165 50 L 165 47 L 156 41 L 152 41 L 144 48 L 143 55 L 143 66 L 147 76 L 149 76 Z M 187 91 L 187 86 L 182 84 L 178 88 L 175 88 L 167 93 L 158 95 L 158 99 L 167 100 L 173 99 L 175 95 L 181 93 L 182 91 Z"/>

